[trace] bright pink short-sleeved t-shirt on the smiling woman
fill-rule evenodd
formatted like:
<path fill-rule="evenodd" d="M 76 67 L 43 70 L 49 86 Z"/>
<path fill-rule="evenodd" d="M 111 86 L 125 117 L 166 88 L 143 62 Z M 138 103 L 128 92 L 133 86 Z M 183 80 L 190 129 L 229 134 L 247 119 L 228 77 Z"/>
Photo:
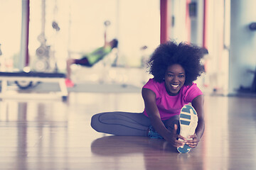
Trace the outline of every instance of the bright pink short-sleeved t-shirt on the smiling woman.
<path fill-rule="evenodd" d="M 194 98 L 203 94 L 194 83 L 191 86 L 181 87 L 176 96 L 170 96 L 167 93 L 164 81 L 159 83 L 154 79 L 149 79 L 143 88 L 150 89 L 156 94 L 156 106 L 159 109 L 161 120 L 167 120 L 174 115 L 178 115 L 184 105 L 191 103 Z M 144 114 L 148 116 L 145 110 Z"/>

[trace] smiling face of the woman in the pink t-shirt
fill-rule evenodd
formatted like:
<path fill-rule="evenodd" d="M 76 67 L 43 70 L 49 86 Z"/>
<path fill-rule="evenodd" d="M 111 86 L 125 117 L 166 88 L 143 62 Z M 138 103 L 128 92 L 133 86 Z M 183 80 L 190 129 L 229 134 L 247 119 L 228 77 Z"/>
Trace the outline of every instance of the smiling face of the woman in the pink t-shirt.
<path fill-rule="evenodd" d="M 186 80 L 186 73 L 180 64 L 173 64 L 167 67 L 164 76 L 166 91 L 170 96 L 176 96 L 178 91 L 184 85 Z"/>

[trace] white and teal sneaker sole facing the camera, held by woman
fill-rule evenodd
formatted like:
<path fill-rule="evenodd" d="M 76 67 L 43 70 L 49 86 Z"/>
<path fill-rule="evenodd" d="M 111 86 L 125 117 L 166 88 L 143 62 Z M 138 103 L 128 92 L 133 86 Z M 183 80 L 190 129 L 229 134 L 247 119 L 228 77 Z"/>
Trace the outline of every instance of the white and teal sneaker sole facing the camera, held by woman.
<path fill-rule="evenodd" d="M 187 138 L 189 135 L 193 135 L 195 133 L 198 125 L 198 115 L 192 106 L 185 105 L 181 108 L 179 123 L 181 136 Z M 191 150 L 191 147 L 185 144 L 183 147 L 178 147 L 177 150 L 180 153 L 188 153 Z"/>

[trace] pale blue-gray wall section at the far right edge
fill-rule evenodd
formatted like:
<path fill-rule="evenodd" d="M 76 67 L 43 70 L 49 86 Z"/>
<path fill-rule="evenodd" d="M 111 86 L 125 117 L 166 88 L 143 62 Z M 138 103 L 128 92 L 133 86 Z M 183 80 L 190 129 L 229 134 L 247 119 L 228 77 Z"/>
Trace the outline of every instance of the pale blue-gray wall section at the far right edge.
<path fill-rule="evenodd" d="M 247 69 L 256 67 L 256 31 L 249 25 L 256 21 L 256 1 L 231 1 L 230 25 L 230 79 L 229 93 L 234 94 L 240 86 L 251 86 L 253 74 Z"/>

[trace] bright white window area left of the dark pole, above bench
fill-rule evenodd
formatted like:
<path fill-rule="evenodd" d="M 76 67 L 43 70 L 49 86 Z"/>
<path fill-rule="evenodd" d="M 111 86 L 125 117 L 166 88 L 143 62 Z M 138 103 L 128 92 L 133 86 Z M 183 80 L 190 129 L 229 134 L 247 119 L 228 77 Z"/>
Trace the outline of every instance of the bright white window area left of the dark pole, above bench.
<path fill-rule="evenodd" d="M 0 0 L 0 70 L 4 72 L 18 66 L 21 49 L 21 0 Z M 13 59 L 17 60 L 14 61 Z M 15 62 L 15 63 L 14 63 Z"/>

